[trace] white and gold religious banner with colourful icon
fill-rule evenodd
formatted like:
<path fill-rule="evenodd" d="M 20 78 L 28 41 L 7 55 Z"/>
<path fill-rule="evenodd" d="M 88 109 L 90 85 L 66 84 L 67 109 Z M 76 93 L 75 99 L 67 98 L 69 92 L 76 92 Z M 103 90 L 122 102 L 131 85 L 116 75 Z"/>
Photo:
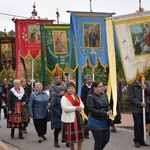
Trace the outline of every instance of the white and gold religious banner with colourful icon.
<path fill-rule="evenodd" d="M 150 11 L 114 17 L 117 42 L 127 83 L 150 68 Z"/>

